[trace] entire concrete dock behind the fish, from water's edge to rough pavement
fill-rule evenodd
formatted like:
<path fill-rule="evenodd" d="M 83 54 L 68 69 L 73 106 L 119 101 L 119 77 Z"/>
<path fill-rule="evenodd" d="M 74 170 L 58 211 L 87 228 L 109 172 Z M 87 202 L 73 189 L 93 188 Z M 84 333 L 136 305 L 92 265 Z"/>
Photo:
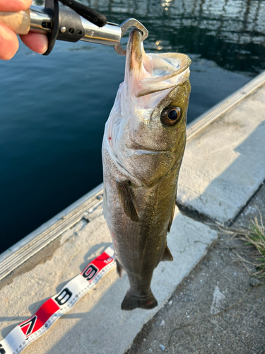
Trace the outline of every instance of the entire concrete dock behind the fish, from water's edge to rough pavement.
<path fill-rule="evenodd" d="M 23 353 L 265 353 L 264 282 L 216 227 L 265 211 L 264 112 L 261 74 L 188 127 L 158 307 L 122 312 L 128 280 L 112 269 Z M 110 246 L 101 205 L 102 185 L 0 256 L 0 341 Z"/>

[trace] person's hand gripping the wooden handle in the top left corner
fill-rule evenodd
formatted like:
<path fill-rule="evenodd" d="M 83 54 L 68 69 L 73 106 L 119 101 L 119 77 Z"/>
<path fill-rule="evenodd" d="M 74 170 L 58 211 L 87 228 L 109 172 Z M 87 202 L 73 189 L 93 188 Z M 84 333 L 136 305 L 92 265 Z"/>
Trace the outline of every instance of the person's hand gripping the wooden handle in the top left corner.
<path fill-rule="evenodd" d="M 20 11 L 30 7 L 32 0 L 0 0 L 0 11 Z M 43 54 L 48 47 L 47 35 L 30 32 L 20 35 L 21 40 L 33 52 Z M 0 59 L 13 58 L 18 50 L 18 37 L 13 30 L 0 23 Z"/>

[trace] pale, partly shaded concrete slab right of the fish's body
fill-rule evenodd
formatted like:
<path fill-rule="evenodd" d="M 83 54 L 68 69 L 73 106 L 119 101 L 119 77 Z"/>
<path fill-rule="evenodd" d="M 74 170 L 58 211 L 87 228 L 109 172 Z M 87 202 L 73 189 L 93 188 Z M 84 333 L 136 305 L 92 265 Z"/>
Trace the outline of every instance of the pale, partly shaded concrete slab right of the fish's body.
<path fill-rule="evenodd" d="M 229 224 L 265 178 L 265 88 L 261 86 L 187 143 L 177 200 Z"/>

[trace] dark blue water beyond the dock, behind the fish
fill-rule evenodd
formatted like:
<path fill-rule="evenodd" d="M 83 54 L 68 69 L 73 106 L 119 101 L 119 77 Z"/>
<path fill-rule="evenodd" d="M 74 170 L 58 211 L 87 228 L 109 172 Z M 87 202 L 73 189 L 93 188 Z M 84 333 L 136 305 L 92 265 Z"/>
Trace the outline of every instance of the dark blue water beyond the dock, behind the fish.
<path fill-rule="evenodd" d="M 265 1 L 83 4 L 115 23 L 139 19 L 147 52 L 192 58 L 189 121 L 264 70 Z M 102 182 L 102 135 L 123 75 L 124 57 L 84 42 L 57 42 L 49 57 L 21 45 L 0 62 L 0 253 Z"/>

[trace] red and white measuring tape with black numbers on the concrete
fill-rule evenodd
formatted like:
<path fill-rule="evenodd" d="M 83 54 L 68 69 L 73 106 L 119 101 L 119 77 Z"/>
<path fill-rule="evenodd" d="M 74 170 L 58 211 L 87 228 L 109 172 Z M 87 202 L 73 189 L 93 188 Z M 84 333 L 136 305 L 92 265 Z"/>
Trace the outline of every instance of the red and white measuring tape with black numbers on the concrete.
<path fill-rule="evenodd" d="M 18 354 L 37 338 L 42 336 L 57 319 L 69 312 L 83 295 L 89 292 L 115 265 L 114 251 L 105 249 L 93 259 L 81 274 L 67 282 L 57 295 L 48 299 L 37 312 L 18 324 L 2 341 L 0 354 Z"/>

